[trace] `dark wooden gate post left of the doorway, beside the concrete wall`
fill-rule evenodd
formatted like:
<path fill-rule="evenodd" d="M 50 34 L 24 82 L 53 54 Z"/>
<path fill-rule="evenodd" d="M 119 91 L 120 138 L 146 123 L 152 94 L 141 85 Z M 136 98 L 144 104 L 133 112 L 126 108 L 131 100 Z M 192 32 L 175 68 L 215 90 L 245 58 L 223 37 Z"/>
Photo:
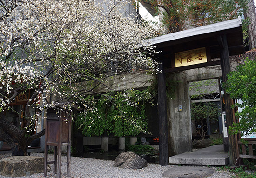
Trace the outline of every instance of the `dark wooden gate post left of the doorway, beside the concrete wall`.
<path fill-rule="evenodd" d="M 163 64 L 159 65 L 162 71 L 157 75 L 158 82 L 158 118 L 159 118 L 159 164 L 168 165 L 168 124 L 167 124 L 167 98 L 165 74 Z"/>

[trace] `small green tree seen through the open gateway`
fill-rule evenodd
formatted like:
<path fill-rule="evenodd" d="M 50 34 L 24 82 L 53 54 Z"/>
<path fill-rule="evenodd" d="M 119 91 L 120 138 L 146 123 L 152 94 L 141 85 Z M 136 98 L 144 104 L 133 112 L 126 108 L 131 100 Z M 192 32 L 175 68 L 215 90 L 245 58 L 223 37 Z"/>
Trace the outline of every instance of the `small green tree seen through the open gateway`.
<path fill-rule="evenodd" d="M 215 121 L 218 121 L 218 108 L 214 103 L 191 103 L 191 119 L 195 121 L 195 125 L 198 126 L 197 133 L 202 139 L 209 129 L 209 125 Z M 205 124 L 209 119 L 209 125 Z"/>

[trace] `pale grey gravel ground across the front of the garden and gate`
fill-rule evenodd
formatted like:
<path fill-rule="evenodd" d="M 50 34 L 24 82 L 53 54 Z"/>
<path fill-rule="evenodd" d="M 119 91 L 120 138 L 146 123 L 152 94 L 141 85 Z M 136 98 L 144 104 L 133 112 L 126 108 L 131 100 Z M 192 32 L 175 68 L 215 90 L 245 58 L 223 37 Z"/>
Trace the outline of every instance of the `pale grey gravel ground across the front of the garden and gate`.
<path fill-rule="evenodd" d="M 0 159 L 11 156 L 10 154 L 0 155 Z M 31 156 L 43 157 L 43 153 L 31 153 Z M 53 155 L 48 156 L 48 160 L 52 160 Z M 67 157 L 63 156 L 62 161 L 66 161 Z M 71 157 L 71 178 L 164 178 L 162 176 L 163 172 L 167 171 L 169 168 L 178 165 L 167 165 L 161 166 L 158 164 L 148 164 L 140 170 L 130 170 L 112 167 L 114 161 L 106 161 L 101 159 L 93 158 L 79 158 Z M 53 164 L 51 164 L 52 166 Z M 186 169 L 186 166 L 182 166 Z M 218 170 L 218 167 L 212 167 Z M 62 178 L 67 178 L 67 168 L 62 166 Z M 53 170 L 53 168 L 52 168 Z M 231 178 L 232 174 L 229 171 L 216 171 L 212 176 L 208 178 Z M 1 176 L 0 178 L 9 178 Z M 33 174 L 27 177 L 20 178 L 43 178 L 43 173 Z M 53 171 L 48 172 L 46 178 L 57 178 L 57 175 L 53 174 Z"/>

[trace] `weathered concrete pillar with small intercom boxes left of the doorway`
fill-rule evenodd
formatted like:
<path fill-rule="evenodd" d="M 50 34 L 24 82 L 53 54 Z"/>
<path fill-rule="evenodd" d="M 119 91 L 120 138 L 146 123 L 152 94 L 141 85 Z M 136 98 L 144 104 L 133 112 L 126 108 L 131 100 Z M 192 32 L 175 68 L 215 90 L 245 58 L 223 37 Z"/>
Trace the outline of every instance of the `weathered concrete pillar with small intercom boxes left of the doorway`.
<path fill-rule="evenodd" d="M 178 81 L 175 98 L 168 99 L 169 156 L 192 152 L 189 84 L 186 75 L 182 72 L 169 74 L 166 80 Z"/>

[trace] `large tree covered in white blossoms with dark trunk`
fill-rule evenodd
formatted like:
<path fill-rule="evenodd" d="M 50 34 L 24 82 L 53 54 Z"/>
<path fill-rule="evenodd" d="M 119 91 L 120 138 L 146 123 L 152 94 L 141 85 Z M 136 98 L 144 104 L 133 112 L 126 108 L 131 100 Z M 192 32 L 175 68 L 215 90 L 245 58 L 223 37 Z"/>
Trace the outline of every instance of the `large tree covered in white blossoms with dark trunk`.
<path fill-rule="evenodd" d="M 0 138 L 11 146 L 13 155 L 27 155 L 30 142 L 45 133 L 28 134 L 36 122 L 36 115 L 28 112 L 30 106 L 40 112 L 73 106 L 93 110 L 85 96 L 100 85 L 111 91 L 106 85 L 111 76 L 155 69 L 155 62 L 146 56 L 154 50 L 139 47 L 155 32 L 135 18 L 124 17 L 121 7 L 128 2 L 103 3 L 0 0 Z M 32 91 L 26 105 L 27 125 L 20 129 L 3 111 L 12 109 L 15 97 L 27 90 Z"/>

